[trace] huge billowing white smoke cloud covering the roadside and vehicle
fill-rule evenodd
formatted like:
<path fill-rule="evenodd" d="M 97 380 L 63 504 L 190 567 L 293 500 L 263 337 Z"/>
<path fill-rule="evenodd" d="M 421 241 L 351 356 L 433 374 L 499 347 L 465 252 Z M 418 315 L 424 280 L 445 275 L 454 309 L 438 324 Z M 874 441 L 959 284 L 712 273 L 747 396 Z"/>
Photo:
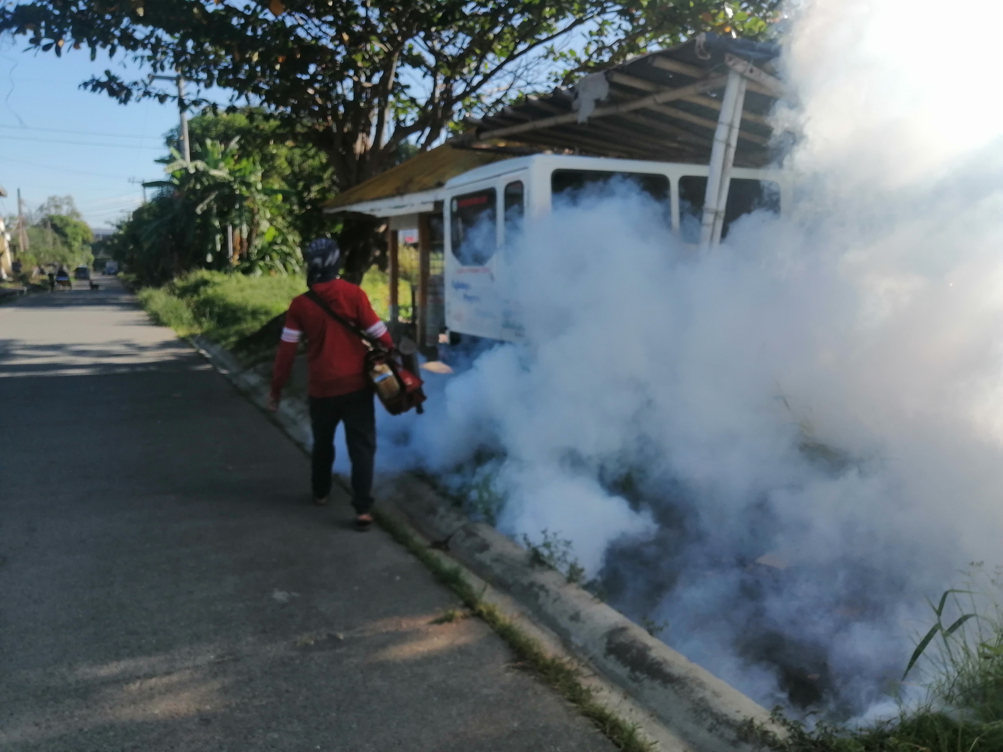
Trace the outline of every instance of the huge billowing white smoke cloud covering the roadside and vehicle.
<path fill-rule="evenodd" d="M 702 256 L 624 186 L 540 221 L 512 259 L 530 344 L 383 426 L 381 461 L 487 450 L 500 528 L 571 539 L 693 660 L 767 705 L 885 702 L 924 598 L 1003 539 L 997 63 L 935 15 L 803 4 L 790 215 Z"/>

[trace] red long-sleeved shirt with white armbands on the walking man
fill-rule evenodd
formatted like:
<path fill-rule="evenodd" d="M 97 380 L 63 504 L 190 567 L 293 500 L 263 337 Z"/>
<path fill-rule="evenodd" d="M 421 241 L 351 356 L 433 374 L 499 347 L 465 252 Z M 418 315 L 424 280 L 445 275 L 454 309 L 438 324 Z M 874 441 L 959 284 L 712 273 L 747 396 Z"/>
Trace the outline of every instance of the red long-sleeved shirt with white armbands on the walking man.
<path fill-rule="evenodd" d="M 393 347 L 386 324 L 373 312 L 362 288 L 344 280 L 331 280 L 313 285 L 311 289 L 336 314 L 358 324 L 387 347 Z M 307 337 L 308 391 L 311 397 L 334 397 L 368 386 L 369 381 L 363 368 L 365 345 L 328 316 L 324 309 L 301 295 L 294 298 L 289 306 L 282 341 L 275 354 L 275 367 L 272 370 L 274 398 L 278 399 L 282 388 L 289 381 L 293 360 L 296 358 L 296 346 L 304 334 Z"/>

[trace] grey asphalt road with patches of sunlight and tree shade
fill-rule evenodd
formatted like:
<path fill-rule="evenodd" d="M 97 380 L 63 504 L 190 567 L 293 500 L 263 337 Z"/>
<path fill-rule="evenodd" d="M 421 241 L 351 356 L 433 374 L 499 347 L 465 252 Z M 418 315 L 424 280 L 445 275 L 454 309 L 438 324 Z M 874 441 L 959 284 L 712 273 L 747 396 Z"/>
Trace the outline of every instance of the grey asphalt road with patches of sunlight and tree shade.
<path fill-rule="evenodd" d="M 613 749 L 100 282 L 0 306 L 0 750 Z"/>

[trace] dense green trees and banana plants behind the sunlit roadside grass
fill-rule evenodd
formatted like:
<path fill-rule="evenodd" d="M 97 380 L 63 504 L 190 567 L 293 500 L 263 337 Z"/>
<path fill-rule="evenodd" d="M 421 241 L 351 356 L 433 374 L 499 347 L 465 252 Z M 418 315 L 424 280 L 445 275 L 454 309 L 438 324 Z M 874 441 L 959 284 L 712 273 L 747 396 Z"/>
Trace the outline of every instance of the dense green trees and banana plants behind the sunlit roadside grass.
<path fill-rule="evenodd" d="M 302 242 L 338 229 L 322 211 L 332 197 L 327 158 L 276 118 L 255 109 L 194 117 L 190 163 L 173 145 L 176 135 L 158 159 L 164 179 L 146 183 L 156 195 L 101 244 L 141 282 L 160 284 L 197 268 L 295 272 Z"/>

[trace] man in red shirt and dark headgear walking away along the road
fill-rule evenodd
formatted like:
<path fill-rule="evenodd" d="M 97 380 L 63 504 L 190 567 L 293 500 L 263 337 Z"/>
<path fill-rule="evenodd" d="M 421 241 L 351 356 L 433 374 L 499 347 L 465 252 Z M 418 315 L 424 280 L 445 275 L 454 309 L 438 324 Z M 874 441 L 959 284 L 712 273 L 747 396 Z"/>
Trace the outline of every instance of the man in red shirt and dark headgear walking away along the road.
<path fill-rule="evenodd" d="M 387 348 L 393 341 L 362 289 L 338 277 L 341 251 L 329 238 L 313 241 L 304 254 L 307 285 L 339 316 L 354 322 Z M 307 338 L 310 424 L 313 428 L 312 485 L 314 503 L 326 504 L 331 492 L 334 431 L 345 423 L 345 441 L 352 460 L 352 506 L 356 526 L 372 524 L 373 457 L 376 415 L 373 390 L 364 370 L 366 347 L 346 327 L 331 318 L 306 295 L 293 299 L 286 313 L 282 340 L 272 371 L 269 407 L 279 408 L 282 388 L 289 381 L 300 339 Z"/>

